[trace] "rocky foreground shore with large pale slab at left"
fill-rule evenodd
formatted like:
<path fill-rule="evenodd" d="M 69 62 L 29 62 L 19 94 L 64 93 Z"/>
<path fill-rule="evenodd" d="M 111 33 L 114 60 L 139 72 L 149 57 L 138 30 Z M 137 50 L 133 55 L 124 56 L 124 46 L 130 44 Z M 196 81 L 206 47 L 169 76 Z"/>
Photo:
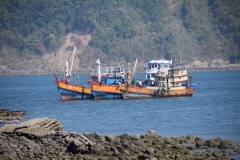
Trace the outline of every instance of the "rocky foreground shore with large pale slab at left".
<path fill-rule="evenodd" d="M 158 160 L 230 159 L 240 154 L 237 142 L 192 135 L 163 137 L 67 133 L 56 119 L 36 118 L 0 128 L 0 159 Z M 233 158 L 234 159 L 234 158 Z"/>

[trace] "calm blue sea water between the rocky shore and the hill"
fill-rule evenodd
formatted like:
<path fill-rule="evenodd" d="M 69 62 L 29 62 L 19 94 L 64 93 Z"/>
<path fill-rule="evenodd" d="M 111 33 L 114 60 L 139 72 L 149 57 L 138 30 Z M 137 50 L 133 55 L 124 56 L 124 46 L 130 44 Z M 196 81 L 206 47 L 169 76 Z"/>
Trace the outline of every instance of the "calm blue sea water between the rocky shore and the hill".
<path fill-rule="evenodd" d="M 54 76 L 0 77 L 0 108 L 58 119 L 67 132 L 221 137 L 240 142 L 240 71 L 194 72 L 193 97 L 61 101 Z M 140 75 L 143 76 L 143 75 Z M 89 75 L 81 82 L 88 85 Z"/>

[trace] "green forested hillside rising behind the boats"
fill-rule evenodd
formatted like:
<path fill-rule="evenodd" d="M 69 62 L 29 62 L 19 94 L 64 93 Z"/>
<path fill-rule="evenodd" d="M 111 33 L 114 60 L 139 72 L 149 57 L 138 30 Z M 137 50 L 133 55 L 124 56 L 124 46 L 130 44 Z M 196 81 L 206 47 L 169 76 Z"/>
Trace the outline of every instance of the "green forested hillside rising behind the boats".
<path fill-rule="evenodd" d="M 68 35 L 72 35 L 69 43 Z M 240 3 L 0 0 L 0 72 L 29 67 L 58 70 L 58 65 L 64 65 L 59 64 L 64 58 L 59 53 L 72 45 L 77 46 L 85 68 L 91 68 L 90 62 L 97 58 L 105 64 L 133 63 L 136 58 L 145 63 L 163 57 L 176 63 L 180 52 L 188 64 L 239 63 Z M 26 64 L 27 68 L 22 67 Z"/>

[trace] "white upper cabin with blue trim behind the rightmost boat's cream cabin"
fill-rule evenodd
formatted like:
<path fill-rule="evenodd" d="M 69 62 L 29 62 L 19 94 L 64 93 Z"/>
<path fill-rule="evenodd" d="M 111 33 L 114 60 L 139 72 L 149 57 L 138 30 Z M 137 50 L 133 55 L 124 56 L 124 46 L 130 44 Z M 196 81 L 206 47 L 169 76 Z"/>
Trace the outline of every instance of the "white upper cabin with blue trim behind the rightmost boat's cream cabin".
<path fill-rule="evenodd" d="M 146 70 L 146 81 L 148 86 L 154 85 L 155 75 L 157 72 L 167 73 L 172 66 L 172 60 L 168 61 L 165 59 L 151 60 L 148 62 Z"/>

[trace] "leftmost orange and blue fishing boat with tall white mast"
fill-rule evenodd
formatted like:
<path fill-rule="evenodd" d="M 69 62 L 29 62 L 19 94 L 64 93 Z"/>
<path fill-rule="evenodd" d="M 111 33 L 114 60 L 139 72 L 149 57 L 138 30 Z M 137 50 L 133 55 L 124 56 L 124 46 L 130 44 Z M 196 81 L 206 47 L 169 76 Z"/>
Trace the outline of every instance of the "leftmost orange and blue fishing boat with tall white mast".
<path fill-rule="evenodd" d="M 79 84 L 79 77 L 77 77 L 76 82 L 73 82 L 73 63 L 74 63 L 74 56 L 76 52 L 76 46 L 74 47 L 73 54 L 71 56 L 71 65 L 69 68 L 68 60 L 66 60 L 65 64 L 65 73 L 62 78 L 59 78 L 55 75 L 55 82 L 57 83 L 57 88 L 60 93 L 60 97 L 62 100 L 86 100 L 86 99 L 93 99 L 92 91 L 90 88 L 84 87 Z"/>

